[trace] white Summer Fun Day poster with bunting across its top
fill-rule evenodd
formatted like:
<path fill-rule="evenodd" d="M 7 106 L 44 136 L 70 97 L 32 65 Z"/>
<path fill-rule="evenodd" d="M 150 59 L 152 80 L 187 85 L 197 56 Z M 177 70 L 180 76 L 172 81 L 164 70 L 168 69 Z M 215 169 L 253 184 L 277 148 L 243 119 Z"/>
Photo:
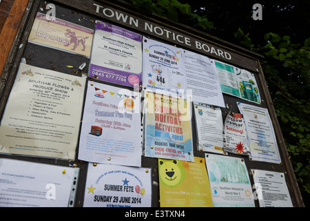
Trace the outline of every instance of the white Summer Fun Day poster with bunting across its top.
<path fill-rule="evenodd" d="M 141 166 L 140 93 L 89 81 L 79 160 Z"/>

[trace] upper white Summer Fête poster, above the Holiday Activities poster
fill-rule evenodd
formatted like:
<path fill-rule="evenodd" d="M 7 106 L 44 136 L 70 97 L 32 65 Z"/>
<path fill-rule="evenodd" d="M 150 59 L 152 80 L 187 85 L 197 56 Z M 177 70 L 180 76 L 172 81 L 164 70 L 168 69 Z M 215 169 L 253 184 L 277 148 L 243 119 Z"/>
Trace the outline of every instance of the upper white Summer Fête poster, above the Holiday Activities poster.
<path fill-rule="evenodd" d="M 185 98 L 186 75 L 181 48 L 143 37 L 143 88 Z"/>

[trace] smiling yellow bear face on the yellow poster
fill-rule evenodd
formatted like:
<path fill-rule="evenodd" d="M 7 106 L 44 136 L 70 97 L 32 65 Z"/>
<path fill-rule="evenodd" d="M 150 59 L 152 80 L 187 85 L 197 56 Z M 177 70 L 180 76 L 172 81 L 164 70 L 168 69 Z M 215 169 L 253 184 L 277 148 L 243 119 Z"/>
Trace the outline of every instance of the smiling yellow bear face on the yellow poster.
<path fill-rule="evenodd" d="M 159 160 L 159 178 L 163 184 L 169 187 L 180 185 L 185 177 L 182 162 L 176 160 Z"/>

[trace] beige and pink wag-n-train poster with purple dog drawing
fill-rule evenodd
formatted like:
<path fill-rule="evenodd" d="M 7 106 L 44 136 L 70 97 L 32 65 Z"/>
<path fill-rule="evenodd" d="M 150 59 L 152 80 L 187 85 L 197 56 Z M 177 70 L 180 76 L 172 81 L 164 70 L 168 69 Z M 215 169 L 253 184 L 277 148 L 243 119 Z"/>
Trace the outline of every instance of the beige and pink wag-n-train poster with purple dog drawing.
<path fill-rule="evenodd" d="M 37 13 L 28 41 L 85 57 L 90 57 L 94 30 L 63 19 L 47 19 Z"/>

